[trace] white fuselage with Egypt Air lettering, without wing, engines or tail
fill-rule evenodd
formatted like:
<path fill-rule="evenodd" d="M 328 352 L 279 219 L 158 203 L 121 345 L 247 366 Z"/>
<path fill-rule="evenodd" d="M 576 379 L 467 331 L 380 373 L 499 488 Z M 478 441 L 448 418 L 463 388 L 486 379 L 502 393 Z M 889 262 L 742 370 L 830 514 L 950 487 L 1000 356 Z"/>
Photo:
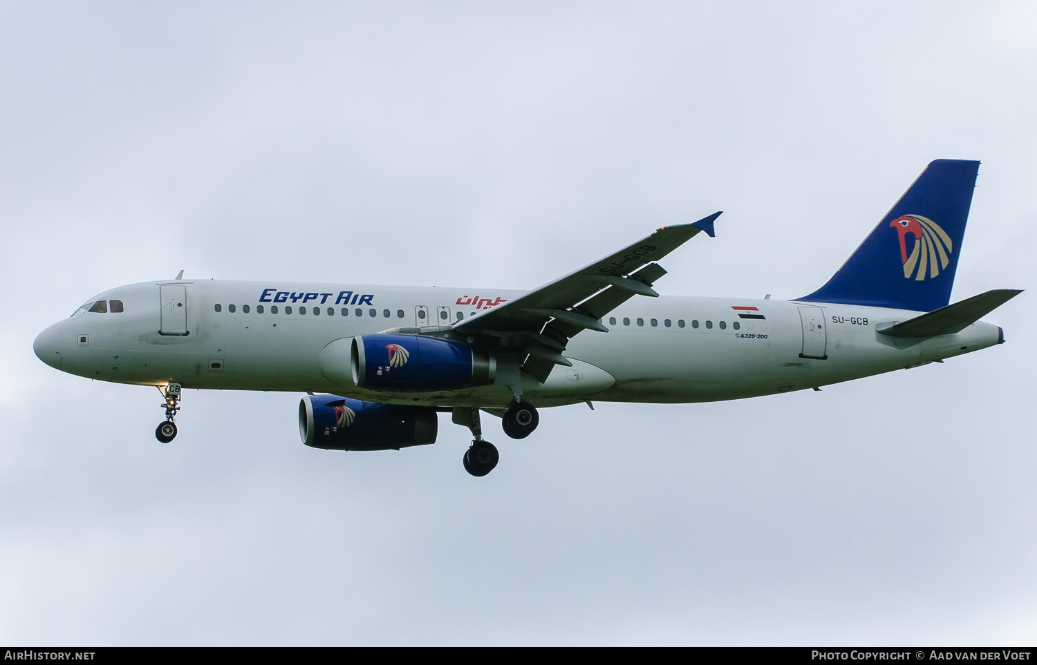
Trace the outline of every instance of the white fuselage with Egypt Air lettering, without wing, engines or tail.
<path fill-rule="evenodd" d="M 499 383 L 409 395 L 335 382 L 328 375 L 342 373 L 323 372 L 321 352 L 343 338 L 453 323 L 458 315 L 468 319 L 517 295 L 436 287 L 150 282 L 97 295 L 97 300 L 121 300 L 124 311 L 82 312 L 55 323 L 39 336 L 36 351 L 61 371 L 120 383 L 505 406 L 511 391 Z M 569 342 L 563 355 L 573 367 L 556 367 L 543 384 L 525 377 L 524 396 L 542 406 L 729 400 L 847 381 L 1002 341 L 1001 329 L 983 322 L 923 341 L 875 331 L 876 324 L 918 314 L 768 299 L 635 297 L 602 319 L 609 332 L 586 330 Z"/>

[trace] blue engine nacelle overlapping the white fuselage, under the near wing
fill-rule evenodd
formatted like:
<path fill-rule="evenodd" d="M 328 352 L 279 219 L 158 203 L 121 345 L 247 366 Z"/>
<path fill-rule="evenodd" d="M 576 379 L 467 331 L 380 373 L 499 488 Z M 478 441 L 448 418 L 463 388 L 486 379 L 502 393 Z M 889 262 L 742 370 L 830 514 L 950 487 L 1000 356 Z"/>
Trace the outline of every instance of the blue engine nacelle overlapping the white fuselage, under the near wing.
<path fill-rule="evenodd" d="M 358 387 L 405 393 L 489 385 L 497 373 L 487 351 L 418 335 L 354 338 L 349 365 Z"/>

